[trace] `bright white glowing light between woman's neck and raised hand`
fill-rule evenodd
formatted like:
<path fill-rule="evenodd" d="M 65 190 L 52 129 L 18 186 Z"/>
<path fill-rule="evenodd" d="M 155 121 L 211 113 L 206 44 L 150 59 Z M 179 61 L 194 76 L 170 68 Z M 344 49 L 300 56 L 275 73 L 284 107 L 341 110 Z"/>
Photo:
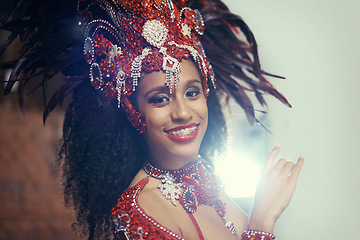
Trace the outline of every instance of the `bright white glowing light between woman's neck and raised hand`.
<path fill-rule="evenodd" d="M 232 198 L 253 197 L 261 175 L 261 167 L 242 153 L 228 154 L 216 161 L 215 169 Z"/>

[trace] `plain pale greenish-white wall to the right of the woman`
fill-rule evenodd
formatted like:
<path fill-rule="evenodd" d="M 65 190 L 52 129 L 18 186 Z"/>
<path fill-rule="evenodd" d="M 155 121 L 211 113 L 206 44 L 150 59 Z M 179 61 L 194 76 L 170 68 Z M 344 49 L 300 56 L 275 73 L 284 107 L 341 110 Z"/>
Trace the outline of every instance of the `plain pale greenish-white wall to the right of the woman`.
<path fill-rule="evenodd" d="M 280 240 L 360 239 L 360 1 L 225 0 L 293 108 L 269 100 L 273 145 L 305 165 Z"/>

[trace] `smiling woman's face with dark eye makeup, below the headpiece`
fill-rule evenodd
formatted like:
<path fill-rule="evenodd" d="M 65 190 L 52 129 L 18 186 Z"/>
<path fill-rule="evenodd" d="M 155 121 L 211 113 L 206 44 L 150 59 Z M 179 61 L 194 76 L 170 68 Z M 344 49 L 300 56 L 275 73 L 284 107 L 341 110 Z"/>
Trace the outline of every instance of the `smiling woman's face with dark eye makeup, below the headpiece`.
<path fill-rule="evenodd" d="M 208 124 L 208 109 L 193 62 L 181 62 L 178 89 L 171 95 L 164 79 L 162 71 L 146 74 L 136 97 L 146 120 L 144 134 L 151 160 L 159 167 L 175 169 L 197 159 Z"/>

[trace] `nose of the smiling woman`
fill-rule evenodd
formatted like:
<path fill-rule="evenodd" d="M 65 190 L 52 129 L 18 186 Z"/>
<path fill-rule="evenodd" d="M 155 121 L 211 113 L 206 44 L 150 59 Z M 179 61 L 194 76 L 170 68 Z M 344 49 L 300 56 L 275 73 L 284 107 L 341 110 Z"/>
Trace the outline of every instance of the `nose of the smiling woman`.
<path fill-rule="evenodd" d="M 184 97 L 175 97 L 172 102 L 171 119 L 177 123 L 187 123 L 191 120 L 191 103 Z"/>

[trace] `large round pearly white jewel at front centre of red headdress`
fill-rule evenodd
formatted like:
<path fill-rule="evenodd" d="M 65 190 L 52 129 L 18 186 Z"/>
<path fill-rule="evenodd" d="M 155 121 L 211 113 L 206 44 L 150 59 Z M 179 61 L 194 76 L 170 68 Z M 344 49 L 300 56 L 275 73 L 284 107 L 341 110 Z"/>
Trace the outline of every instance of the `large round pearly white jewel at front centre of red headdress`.
<path fill-rule="evenodd" d="M 162 22 L 156 19 L 152 19 L 146 21 L 144 24 L 142 36 L 148 43 L 154 47 L 160 48 L 166 41 L 168 31 L 169 30 Z"/>

